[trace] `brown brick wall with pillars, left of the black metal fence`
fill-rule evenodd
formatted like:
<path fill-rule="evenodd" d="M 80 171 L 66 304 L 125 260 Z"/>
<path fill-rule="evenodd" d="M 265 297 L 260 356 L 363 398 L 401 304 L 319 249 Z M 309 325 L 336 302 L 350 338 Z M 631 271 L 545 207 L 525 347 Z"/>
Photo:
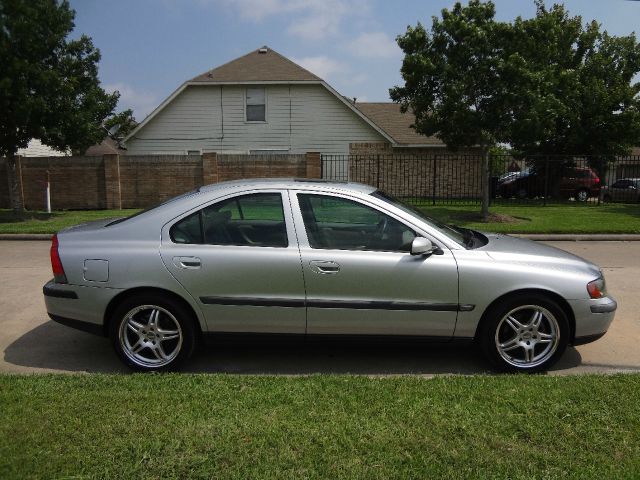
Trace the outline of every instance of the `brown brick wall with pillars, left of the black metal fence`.
<path fill-rule="evenodd" d="M 144 208 L 202 185 L 240 178 L 320 178 L 319 153 L 306 155 L 105 155 L 20 159 L 24 205 L 63 209 Z M 0 158 L 0 208 L 9 208 L 6 160 Z"/>

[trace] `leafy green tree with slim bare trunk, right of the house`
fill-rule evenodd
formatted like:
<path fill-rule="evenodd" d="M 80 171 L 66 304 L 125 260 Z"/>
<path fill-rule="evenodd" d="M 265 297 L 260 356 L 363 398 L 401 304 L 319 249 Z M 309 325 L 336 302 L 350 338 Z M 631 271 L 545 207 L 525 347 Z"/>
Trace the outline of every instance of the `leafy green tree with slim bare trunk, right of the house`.
<path fill-rule="evenodd" d="M 450 148 L 482 151 L 482 215 L 489 216 L 489 150 L 509 140 L 503 42 L 508 25 L 496 22 L 492 2 L 456 3 L 433 17 L 431 31 L 418 23 L 397 38 L 405 53 L 404 86 L 390 89 L 403 111 L 416 117 L 415 129 L 436 135 Z"/>

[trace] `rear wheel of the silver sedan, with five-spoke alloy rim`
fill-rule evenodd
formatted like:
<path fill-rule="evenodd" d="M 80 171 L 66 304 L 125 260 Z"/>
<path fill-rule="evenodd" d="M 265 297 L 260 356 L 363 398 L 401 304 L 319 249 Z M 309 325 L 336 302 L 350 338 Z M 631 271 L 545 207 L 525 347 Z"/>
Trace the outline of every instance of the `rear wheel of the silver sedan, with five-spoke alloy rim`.
<path fill-rule="evenodd" d="M 120 359 L 133 370 L 175 370 L 193 353 L 196 328 L 192 313 L 157 294 L 124 300 L 113 312 L 109 335 Z"/>

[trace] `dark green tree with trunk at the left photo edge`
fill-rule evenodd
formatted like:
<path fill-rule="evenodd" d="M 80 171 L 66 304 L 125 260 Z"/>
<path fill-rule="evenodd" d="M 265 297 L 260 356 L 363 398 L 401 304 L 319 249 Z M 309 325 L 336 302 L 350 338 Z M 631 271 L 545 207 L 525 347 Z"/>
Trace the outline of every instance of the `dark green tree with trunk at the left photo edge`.
<path fill-rule="evenodd" d="M 82 150 L 104 137 L 119 94 L 98 81 L 100 52 L 85 35 L 67 40 L 75 12 L 66 0 L 0 2 L 0 155 L 11 206 L 21 214 L 15 154 L 32 138 Z"/>

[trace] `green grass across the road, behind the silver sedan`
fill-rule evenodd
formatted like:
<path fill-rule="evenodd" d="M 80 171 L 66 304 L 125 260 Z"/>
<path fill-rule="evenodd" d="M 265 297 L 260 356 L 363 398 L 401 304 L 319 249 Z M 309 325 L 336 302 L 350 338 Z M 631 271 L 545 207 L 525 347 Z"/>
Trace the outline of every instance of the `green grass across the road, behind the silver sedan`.
<path fill-rule="evenodd" d="M 510 221 L 483 223 L 478 205 L 418 205 L 445 223 L 500 233 L 640 233 L 640 205 L 494 205 L 491 213 Z M 63 228 L 102 218 L 132 215 L 138 210 L 27 212 L 16 221 L 0 210 L 0 233 L 54 233 Z"/>

